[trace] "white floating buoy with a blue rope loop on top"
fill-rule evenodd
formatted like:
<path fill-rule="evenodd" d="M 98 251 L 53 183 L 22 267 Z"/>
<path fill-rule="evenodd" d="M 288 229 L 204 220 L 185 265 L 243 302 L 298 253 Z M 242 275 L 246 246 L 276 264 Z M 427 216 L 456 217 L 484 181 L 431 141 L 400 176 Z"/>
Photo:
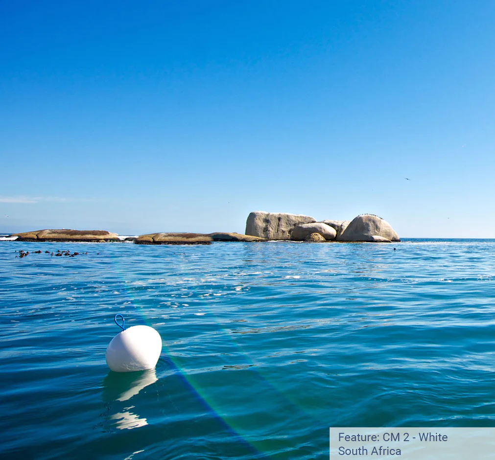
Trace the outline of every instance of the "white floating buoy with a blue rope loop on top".
<path fill-rule="evenodd" d="M 117 323 L 122 318 L 122 325 Z M 124 318 L 115 315 L 115 322 L 122 331 L 108 344 L 106 364 L 115 372 L 133 372 L 153 369 L 161 353 L 160 334 L 149 326 L 139 325 L 124 329 Z"/>

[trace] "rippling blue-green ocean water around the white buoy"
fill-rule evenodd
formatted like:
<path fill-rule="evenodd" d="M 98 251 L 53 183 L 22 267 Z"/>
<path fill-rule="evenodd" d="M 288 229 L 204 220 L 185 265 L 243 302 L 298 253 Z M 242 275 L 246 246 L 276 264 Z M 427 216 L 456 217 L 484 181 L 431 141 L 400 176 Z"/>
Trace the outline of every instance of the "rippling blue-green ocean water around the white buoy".
<path fill-rule="evenodd" d="M 3 241 L 0 264 L 2 459 L 327 459 L 330 426 L 495 426 L 495 240 Z M 106 367 L 117 313 L 158 330 L 156 369 Z"/>

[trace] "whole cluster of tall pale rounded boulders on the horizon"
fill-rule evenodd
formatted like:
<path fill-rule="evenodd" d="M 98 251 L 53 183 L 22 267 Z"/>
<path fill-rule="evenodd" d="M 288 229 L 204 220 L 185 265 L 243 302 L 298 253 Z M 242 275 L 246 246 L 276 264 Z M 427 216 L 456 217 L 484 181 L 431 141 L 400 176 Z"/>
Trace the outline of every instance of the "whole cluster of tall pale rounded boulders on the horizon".
<path fill-rule="evenodd" d="M 323 239 L 316 238 L 314 233 L 318 233 Z M 301 214 L 254 211 L 247 217 L 246 234 L 267 239 L 313 242 L 317 240 L 375 243 L 400 241 L 392 226 L 374 214 L 362 214 L 352 221 L 316 222 L 314 218 Z"/>

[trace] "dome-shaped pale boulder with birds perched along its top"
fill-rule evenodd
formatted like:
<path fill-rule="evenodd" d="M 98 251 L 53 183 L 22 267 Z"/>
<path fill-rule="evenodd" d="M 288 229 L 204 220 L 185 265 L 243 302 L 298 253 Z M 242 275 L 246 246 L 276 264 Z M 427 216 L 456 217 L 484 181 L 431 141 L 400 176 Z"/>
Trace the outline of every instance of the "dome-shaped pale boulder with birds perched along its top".
<path fill-rule="evenodd" d="M 400 241 L 392 226 L 381 217 L 364 214 L 355 217 L 346 230 L 337 236 L 338 241 Z"/>

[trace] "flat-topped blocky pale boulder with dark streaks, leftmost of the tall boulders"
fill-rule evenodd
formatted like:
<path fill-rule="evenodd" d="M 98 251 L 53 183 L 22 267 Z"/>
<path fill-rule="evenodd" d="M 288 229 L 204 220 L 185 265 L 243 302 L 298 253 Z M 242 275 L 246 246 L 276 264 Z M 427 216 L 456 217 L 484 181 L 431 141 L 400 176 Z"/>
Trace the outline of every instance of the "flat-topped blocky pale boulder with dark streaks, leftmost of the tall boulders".
<path fill-rule="evenodd" d="M 267 239 L 290 239 L 294 227 L 312 222 L 316 220 L 302 214 L 254 211 L 247 216 L 246 234 Z"/>

